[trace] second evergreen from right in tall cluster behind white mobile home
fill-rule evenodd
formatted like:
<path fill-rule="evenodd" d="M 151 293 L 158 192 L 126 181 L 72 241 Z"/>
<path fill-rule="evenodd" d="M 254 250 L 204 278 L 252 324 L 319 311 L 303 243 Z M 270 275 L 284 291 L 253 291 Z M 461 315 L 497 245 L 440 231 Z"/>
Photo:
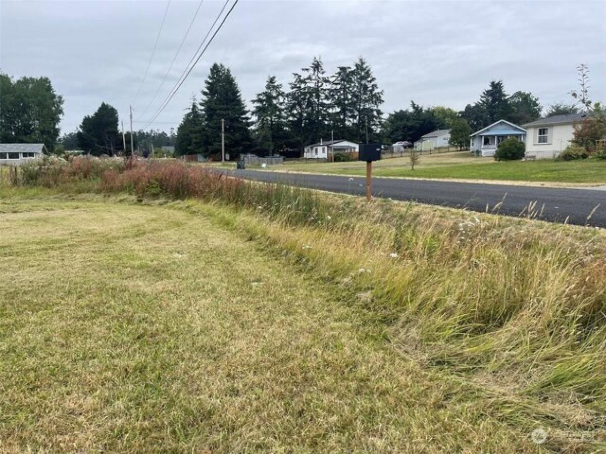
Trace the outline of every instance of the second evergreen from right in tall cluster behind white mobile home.
<path fill-rule="evenodd" d="M 330 81 L 328 96 L 331 107 L 331 127 L 335 137 L 348 139 L 353 135 L 351 124 L 355 116 L 353 105 L 353 74 L 348 66 L 340 66 Z"/>

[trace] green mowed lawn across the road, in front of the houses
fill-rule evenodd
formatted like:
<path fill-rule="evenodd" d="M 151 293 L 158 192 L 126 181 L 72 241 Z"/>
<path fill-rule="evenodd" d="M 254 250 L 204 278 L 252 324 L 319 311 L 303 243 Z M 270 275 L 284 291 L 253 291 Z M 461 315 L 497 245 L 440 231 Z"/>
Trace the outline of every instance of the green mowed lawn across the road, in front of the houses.
<path fill-rule="evenodd" d="M 273 166 L 276 170 L 359 176 L 366 172 L 364 162 L 298 163 Z M 383 159 L 373 165 L 373 175 L 437 179 L 511 180 L 528 182 L 606 183 L 604 160 L 534 160 L 496 162 L 491 157 L 462 153 L 423 154 L 415 170 L 407 157 Z"/>

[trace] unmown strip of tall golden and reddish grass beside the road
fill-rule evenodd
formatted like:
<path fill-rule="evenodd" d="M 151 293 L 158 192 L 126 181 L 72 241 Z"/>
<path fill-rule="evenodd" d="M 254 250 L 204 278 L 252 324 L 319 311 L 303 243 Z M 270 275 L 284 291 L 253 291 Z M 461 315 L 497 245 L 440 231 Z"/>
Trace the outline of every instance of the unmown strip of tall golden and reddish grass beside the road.
<path fill-rule="evenodd" d="M 589 429 L 606 422 L 606 251 L 593 229 L 367 205 L 176 162 L 130 162 L 88 177 L 78 160 L 63 166 L 64 183 L 250 211 L 262 222 L 243 228 L 348 289 L 351 304 L 386 323 L 407 355 L 502 393 L 579 404 Z M 52 178 L 42 171 L 38 182 Z"/>

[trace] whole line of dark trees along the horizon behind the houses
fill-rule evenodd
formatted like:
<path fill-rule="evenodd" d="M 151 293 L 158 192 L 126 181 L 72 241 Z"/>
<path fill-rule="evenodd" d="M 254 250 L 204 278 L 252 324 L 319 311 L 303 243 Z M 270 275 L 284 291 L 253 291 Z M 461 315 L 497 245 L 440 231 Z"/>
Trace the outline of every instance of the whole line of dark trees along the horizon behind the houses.
<path fill-rule="evenodd" d="M 364 58 L 339 66 L 326 74 L 321 58 L 292 74 L 287 88 L 269 76 L 264 89 L 251 100 L 248 110 L 229 68 L 215 63 L 204 82 L 200 99 L 192 99 L 178 129 L 139 130 L 133 136 L 135 149 L 175 145 L 176 153 L 217 156 L 221 152 L 221 121 L 225 149 L 260 155 L 280 153 L 300 156 L 302 148 L 320 139 L 355 142 L 415 142 L 431 131 L 448 128 L 453 145 L 465 147 L 472 131 L 499 119 L 518 125 L 538 119 L 542 107 L 538 97 L 525 91 L 509 95 L 502 81 L 492 81 L 479 99 L 462 111 L 444 106 L 410 107 L 386 117 L 381 111 L 384 91 Z M 581 104 L 580 107 L 579 103 Z M 59 138 L 63 98 L 55 93 L 47 77 L 21 77 L 13 81 L 0 73 L 0 141 L 44 142 L 50 151 L 84 150 L 87 153 L 131 154 L 130 133 L 126 147 L 118 128 L 118 111 L 102 103 L 95 113 L 82 119 L 78 130 Z M 547 108 L 547 116 L 577 113 L 582 99 Z"/>

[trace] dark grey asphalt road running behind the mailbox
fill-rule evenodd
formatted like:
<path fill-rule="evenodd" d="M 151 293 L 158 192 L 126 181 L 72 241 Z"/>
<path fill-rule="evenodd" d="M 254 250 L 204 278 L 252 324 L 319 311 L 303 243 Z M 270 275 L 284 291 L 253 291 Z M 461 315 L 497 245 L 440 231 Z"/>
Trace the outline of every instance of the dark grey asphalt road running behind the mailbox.
<path fill-rule="evenodd" d="M 233 176 L 302 186 L 345 194 L 365 194 L 364 177 L 341 177 L 254 170 L 224 171 Z M 373 196 L 414 200 L 430 205 L 493 211 L 510 216 L 536 212 L 536 218 L 606 228 L 606 191 L 599 189 L 541 188 L 484 183 L 405 180 L 373 177 Z M 597 208 L 596 208 L 597 207 Z M 592 214 L 593 212 L 593 214 Z M 588 217 L 591 217 L 588 219 Z"/>

